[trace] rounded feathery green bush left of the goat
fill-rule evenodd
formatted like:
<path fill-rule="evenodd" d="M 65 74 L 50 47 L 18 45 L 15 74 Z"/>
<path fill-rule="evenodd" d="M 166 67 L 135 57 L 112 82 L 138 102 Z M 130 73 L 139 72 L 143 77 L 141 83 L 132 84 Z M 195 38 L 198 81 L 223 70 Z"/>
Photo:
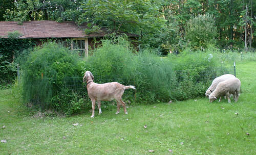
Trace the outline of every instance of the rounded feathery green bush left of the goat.
<path fill-rule="evenodd" d="M 24 101 L 41 109 L 56 110 L 50 100 L 61 92 L 65 77 L 80 75 L 79 62 L 78 55 L 56 43 L 35 48 L 22 65 Z"/>

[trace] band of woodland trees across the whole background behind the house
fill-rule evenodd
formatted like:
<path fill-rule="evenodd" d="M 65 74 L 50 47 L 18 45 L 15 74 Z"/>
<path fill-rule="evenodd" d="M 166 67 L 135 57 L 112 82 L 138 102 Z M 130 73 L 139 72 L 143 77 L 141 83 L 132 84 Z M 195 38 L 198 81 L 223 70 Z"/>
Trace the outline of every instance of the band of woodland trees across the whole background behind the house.
<path fill-rule="evenodd" d="M 150 46 L 162 54 L 183 50 L 187 42 L 194 48 L 207 46 L 207 42 L 200 41 L 202 35 L 210 33 L 214 37 L 211 40 L 216 39 L 216 46 L 221 48 L 256 47 L 256 3 L 253 0 L 5 0 L 0 3 L 0 21 L 16 20 L 20 24 L 27 20 L 91 22 L 99 28 L 138 34 L 140 49 Z M 195 27 L 199 16 L 212 17 L 212 21 L 206 23 L 212 24 L 211 28 L 205 29 L 206 33 L 187 34 L 191 32 L 190 24 Z M 197 25 L 205 24 L 204 20 L 199 21 Z M 197 37 L 200 39 L 195 39 Z"/>

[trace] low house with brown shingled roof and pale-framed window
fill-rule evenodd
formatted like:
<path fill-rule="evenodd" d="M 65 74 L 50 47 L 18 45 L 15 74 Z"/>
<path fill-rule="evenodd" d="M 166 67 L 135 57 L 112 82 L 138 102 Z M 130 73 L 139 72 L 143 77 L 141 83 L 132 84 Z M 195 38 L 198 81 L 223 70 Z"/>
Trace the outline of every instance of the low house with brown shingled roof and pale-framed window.
<path fill-rule="evenodd" d="M 38 45 L 47 39 L 69 41 L 68 45 L 71 49 L 78 50 L 80 55 L 88 57 L 88 51 L 93 49 L 95 40 L 98 41 L 112 32 L 101 28 L 86 34 L 85 29 L 89 29 L 87 23 L 78 26 L 73 21 L 36 20 L 24 21 L 22 25 L 17 24 L 17 21 L 0 21 L 0 38 L 8 38 L 8 33 L 18 32 L 21 34 L 18 38 L 33 39 Z M 138 37 L 135 34 L 125 34 L 133 39 Z"/>

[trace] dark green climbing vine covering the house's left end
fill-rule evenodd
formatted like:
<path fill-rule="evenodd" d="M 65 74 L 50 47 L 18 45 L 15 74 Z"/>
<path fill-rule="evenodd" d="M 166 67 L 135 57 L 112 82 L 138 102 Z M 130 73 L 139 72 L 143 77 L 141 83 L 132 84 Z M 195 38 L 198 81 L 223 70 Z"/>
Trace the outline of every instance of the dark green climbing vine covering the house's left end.
<path fill-rule="evenodd" d="M 35 45 L 31 39 L 18 39 L 17 32 L 8 34 L 8 38 L 0 38 L 0 83 L 11 83 L 16 76 L 16 64 L 14 63 L 24 49 Z"/>

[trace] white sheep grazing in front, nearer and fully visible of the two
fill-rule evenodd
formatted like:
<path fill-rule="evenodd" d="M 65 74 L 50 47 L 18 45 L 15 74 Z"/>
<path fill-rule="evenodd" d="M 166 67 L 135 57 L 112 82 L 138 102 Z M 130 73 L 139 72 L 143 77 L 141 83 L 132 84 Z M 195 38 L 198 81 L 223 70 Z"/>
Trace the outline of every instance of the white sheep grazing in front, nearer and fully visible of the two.
<path fill-rule="evenodd" d="M 241 81 L 237 79 L 236 77 L 227 79 L 223 82 L 220 82 L 214 92 L 212 92 L 209 96 L 209 101 L 212 102 L 218 97 L 226 96 L 228 99 L 228 102 L 230 103 L 230 98 L 229 95 L 233 94 L 234 101 L 236 102 L 240 96 L 240 86 L 241 86 Z"/>

